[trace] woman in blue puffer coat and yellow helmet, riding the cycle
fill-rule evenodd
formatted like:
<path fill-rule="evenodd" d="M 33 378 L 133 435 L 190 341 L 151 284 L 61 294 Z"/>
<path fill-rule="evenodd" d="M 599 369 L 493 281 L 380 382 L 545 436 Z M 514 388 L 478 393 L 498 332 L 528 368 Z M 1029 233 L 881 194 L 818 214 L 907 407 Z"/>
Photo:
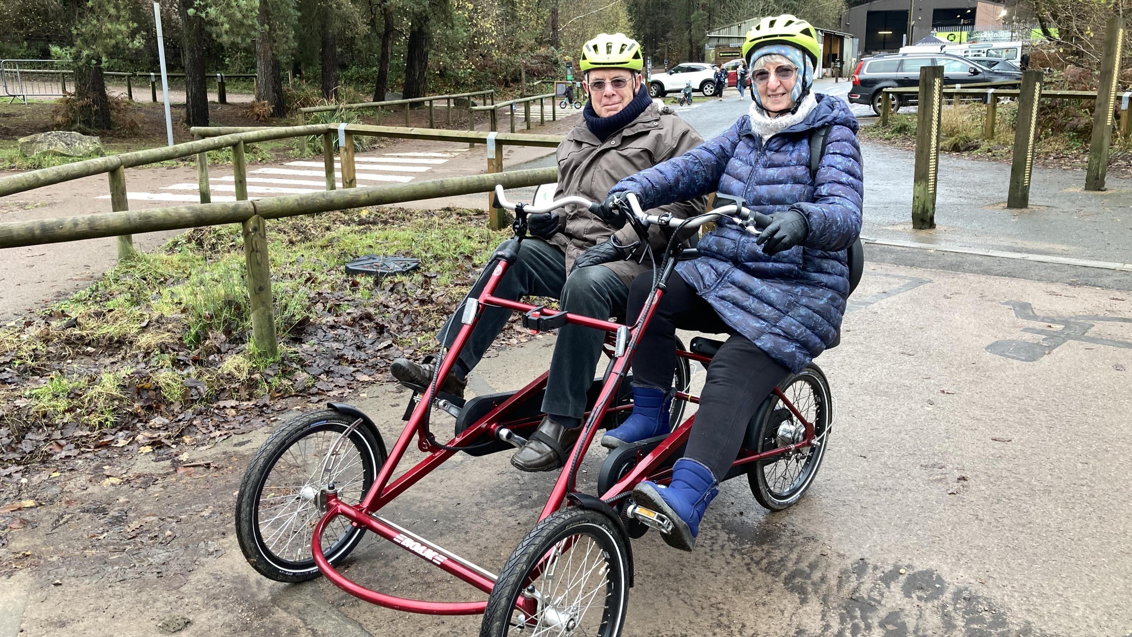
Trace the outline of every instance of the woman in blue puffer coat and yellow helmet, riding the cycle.
<path fill-rule="evenodd" d="M 701 239 L 702 256 L 677 266 L 637 347 L 633 415 L 602 439 L 617 447 L 668 433 L 677 329 L 730 334 L 707 367 L 671 484 L 644 482 L 633 492 L 638 504 L 674 521 L 664 541 L 685 551 L 758 404 L 837 337 L 849 294 L 846 248 L 860 232 L 857 120 L 843 101 L 809 92 L 814 27 L 794 16 L 764 18 L 743 54 L 754 84 L 749 112 L 723 135 L 621 179 L 595 206 L 623 223 L 614 199 L 626 193 L 648 210 L 718 190 L 772 216 L 758 237 L 721 222 Z M 814 135 L 825 143 L 812 173 L 811 148 L 822 147 Z M 633 282 L 629 316 L 640 314 L 651 277 Z"/>

